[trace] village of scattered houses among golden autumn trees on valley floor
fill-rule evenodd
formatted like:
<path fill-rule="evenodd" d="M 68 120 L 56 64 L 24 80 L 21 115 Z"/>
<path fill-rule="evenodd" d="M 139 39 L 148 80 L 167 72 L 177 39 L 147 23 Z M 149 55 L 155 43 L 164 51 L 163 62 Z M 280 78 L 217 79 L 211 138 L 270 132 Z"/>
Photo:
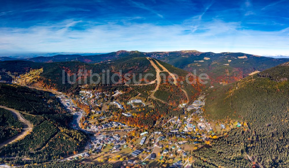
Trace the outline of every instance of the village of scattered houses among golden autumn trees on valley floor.
<path fill-rule="evenodd" d="M 163 164 L 169 167 L 190 167 L 194 151 L 210 146 L 213 139 L 224 136 L 244 123 L 208 120 L 203 116 L 205 93 L 192 104 L 180 104 L 183 115 L 160 118 L 154 129 L 143 129 L 113 121 L 114 108 L 121 115 L 134 117 L 125 107 L 146 108 L 140 99 L 118 100 L 123 91 L 103 92 L 82 87 L 78 95 L 58 95 L 68 112 L 73 114 L 71 127 L 89 135 L 85 150 L 62 160 L 113 163 L 116 166 Z M 218 132 L 218 134 L 216 134 Z M 218 135 L 218 136 L 217 136 Z"/>

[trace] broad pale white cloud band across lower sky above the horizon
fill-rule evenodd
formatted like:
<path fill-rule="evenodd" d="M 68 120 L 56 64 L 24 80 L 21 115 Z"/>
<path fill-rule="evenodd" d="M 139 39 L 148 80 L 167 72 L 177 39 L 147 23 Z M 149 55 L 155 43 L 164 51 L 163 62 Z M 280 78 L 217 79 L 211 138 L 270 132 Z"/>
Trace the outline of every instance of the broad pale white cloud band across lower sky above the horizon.
<path fill-rule="evenodd" d="M 256 55 L 289 53 L 288 30 L 264 32 L 243 29 L 240 22 L 221 20 L 198 23 L 198 31 L 184 33 L 191 25 L 154 25 L 132 23 L 91 24 L 85 30 L 73 29 L 84 21 L 29 28 L 0 28 L 0 52 L 4 51 L 73 51 L 110 52 L 121 49 L 139 51 L 175 51 L 197 49 L 213 52 L 245 52 Z M 268 40 L 270 39 L 270 40 Z"/>

